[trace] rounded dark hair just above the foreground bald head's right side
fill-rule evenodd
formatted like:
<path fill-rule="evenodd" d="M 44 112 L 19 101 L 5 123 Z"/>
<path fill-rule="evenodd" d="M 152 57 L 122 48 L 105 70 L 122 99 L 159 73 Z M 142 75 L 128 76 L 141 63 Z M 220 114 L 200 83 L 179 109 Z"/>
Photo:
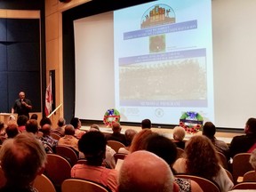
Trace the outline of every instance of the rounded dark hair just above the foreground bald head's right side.
<path fill-rule="evenodd" d="M 160 156 L 164 161 L 172 166 L 177 158 L 177 147 L 172 140 L 163 135 L 153 134 L 146 140 L 146 150 Z"/>

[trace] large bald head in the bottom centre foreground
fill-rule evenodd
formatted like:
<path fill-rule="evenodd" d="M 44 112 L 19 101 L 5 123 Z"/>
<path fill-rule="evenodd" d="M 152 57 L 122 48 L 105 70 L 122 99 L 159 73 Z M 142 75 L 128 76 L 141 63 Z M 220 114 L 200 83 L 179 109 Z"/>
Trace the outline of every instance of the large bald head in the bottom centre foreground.
<path fill-rule="evenodd" d="M 136 151 L 125 157 L 119 172 L 119 192 L 172 192 L 172 171 L 164 160 L 148 151 Z"/>

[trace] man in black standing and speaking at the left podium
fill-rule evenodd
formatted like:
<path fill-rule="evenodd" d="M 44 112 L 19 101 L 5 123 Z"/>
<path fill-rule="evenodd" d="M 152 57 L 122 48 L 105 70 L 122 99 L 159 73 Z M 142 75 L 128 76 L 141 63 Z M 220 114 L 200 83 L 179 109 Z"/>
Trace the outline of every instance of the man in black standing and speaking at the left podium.
<path fill-rule="evenodd" d="M 19 99 L 15 100 L 14 105 L 12 107 L 12 114 L 15 112 L 18 114 L 18 116 L 28 116 L 29 119 L 29 112 L 31 109 L 31 101 L 25 98 L 25 92 L 20 92 Z"/>

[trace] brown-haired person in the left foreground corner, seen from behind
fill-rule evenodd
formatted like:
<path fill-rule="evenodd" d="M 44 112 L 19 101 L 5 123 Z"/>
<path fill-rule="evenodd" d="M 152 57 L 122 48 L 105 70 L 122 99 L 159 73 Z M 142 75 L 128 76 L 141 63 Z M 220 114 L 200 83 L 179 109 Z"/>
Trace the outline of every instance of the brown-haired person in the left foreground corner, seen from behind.
<path fill-rule="evenodd" d="M 24 132 L 5 140 L 0 150 L 0 161 L 7 180 L 1 192 L 37 191 L 32 183 L 44 170 L 46 154 L 33 134 Z"/>

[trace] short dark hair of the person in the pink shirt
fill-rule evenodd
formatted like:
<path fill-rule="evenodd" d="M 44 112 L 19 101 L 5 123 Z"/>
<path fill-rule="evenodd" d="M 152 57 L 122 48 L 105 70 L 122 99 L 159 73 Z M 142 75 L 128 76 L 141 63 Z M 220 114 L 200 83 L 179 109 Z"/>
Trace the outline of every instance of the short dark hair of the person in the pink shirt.
<path fill-rule="evenodd" d="M 100 165 L 105 158 L 107 140 L 102 132 L 87 132 L 78 140 L 79 151 L 88 164 Z"/>

